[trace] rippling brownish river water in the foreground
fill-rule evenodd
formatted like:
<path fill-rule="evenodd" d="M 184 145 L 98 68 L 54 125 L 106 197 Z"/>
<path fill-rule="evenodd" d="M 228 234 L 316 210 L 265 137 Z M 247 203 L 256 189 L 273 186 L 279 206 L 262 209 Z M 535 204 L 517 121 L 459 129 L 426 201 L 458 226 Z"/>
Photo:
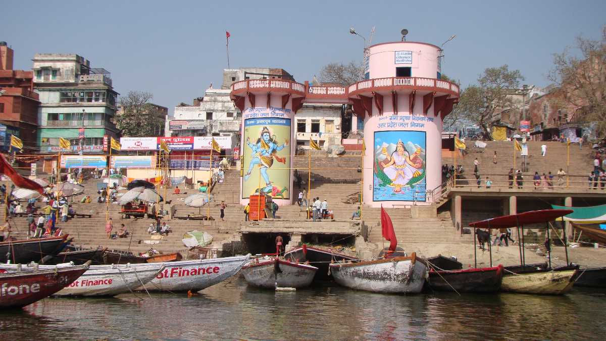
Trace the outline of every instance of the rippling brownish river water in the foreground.
<path fill-rule="evenodd" d="M 2 340 L 604 339 L 606 290 L 562 296 L 296 292 L 233 278 L 184 293 L 52 298 L 0 312 Z"/>

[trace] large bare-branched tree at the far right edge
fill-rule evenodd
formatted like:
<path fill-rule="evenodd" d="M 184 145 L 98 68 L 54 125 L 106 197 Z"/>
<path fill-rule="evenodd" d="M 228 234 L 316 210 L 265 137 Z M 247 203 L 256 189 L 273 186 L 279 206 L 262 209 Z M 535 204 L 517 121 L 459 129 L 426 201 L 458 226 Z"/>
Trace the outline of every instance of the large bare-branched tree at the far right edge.
<path fill-rule="evenodd" d="M 602 38 L 579 36 L 574 46 L 554 55 L 554 69 L 549 79 L 557 84 L 568 104 L 570 120 L 596 122 L 599 136 L 606 134 L 606 25 Z"/>

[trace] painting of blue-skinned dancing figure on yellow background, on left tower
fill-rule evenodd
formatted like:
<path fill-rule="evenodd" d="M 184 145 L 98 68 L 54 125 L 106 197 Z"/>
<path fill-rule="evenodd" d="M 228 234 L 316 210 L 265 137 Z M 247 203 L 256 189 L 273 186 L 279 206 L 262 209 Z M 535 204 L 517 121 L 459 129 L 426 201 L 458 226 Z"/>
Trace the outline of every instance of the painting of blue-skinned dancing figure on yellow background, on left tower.
<path fill-rule="evenodd" d="M 243 138 L 242 199 L 259 190 L 273 198 L 289 199 L 290 119 L 248 118 Z"/>

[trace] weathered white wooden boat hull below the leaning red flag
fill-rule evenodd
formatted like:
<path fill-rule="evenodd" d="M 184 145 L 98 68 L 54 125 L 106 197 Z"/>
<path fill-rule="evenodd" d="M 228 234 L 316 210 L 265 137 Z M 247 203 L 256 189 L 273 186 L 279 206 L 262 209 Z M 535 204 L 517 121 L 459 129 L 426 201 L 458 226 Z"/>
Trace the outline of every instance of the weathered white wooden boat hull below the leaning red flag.
<path fill-rule="evenodd" d="M 373 292 L 416 294 L 421 292 L 428 267 L 413 252 L 408 257 L 339 262 L 330 265 L 330 273 L 339 285 Z"/>

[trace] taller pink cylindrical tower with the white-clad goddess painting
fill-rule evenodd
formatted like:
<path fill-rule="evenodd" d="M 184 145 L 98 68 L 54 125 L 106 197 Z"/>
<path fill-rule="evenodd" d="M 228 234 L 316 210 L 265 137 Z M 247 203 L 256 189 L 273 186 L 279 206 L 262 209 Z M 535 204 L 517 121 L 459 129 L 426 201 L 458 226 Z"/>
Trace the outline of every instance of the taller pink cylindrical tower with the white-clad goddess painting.
<path fill-rule="evenodd" d="M 429 204 L 442 181 L 442 120 L 459 87 L 439 79 L 438 46 L 385 42 L 369 52 L 369 79 L 348 89 L 364 117 L 364 203 Z"/>

